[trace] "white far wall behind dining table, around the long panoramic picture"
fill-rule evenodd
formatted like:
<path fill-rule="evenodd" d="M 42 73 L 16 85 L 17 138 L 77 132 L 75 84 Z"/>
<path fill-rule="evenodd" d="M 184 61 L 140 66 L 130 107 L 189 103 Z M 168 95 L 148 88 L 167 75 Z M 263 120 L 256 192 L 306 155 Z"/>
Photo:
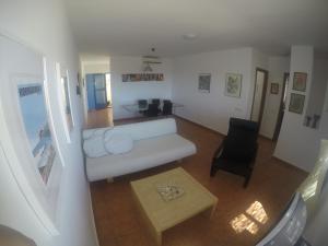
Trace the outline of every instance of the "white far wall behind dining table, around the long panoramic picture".
<path fill-rule="evenodd" d="M 122 105 L 134 104 L 142 98 L 172 97 L 172 60 L 162 59 L 162 65 L 152 65 L 153 72 L 164 73 L 160 82 L 121 82 L 125 73 L 142 73 L 141 57 L 110 57 L 110 80 L 114 119 L 133 117 Z"/>

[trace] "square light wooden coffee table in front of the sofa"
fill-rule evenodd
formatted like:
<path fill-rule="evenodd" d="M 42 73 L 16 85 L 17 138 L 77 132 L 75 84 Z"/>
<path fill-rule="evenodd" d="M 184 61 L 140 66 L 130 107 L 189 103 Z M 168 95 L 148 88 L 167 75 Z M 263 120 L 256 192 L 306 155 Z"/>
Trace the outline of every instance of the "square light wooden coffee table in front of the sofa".
<path fill-rule="evenodd" d="M 157 186 L 174 183 L 185 192 L 183 196 L 165 201 L 157 192 Z M 131 181 L 133 195 L 141 213 L 149 225 L 157 245 L 162 244 L 162 233 L 206 212 L 211 218 L 218 199 L 181 167 Z"/>

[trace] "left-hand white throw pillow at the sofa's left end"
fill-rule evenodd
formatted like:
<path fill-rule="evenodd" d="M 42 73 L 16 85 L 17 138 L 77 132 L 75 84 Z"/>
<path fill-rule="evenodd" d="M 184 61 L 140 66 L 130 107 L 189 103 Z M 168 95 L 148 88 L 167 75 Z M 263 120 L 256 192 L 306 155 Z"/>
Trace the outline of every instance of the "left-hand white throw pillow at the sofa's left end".
<path fill-rule="evenodd" d="M 108 154 L 104 147 L 103 134 L 84 140 L 83 150 L 89 157 L 101 157 Z"/>

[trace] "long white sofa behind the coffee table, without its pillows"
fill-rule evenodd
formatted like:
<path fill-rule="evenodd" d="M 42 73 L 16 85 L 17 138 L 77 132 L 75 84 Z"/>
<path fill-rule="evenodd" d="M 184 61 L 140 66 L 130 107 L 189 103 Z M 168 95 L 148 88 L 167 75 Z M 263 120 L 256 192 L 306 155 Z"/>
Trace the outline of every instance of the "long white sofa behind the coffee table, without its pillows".
<path fill-rule="evenodd" d="M 104 134 L 106 131 L 131 136 L 133 148 L 122 154 L 107 154 L 86 159 L 86 176 L 90 181 L 114 177 L 163 165 L 196 153 L 196 145 L 177 134 L 173 118 L 150 120 L 113 128 L 89 129 L 83 139 Z"/>

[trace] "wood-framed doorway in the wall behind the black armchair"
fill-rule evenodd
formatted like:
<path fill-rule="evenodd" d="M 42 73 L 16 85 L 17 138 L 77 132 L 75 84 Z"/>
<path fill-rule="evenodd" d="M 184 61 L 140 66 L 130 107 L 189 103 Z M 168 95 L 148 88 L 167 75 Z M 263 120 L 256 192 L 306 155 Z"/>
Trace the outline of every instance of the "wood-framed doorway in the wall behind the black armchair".
<path fill-rule="evenodd" d="M 256 69 L 250 119 L 253 121 L 258 122 L 259 126 L 261 124 L 262 116 L 263 116 L 267 86 L 268 86 L 268 75 L 269 72 L 267 70 L 260 68 Z"/>

